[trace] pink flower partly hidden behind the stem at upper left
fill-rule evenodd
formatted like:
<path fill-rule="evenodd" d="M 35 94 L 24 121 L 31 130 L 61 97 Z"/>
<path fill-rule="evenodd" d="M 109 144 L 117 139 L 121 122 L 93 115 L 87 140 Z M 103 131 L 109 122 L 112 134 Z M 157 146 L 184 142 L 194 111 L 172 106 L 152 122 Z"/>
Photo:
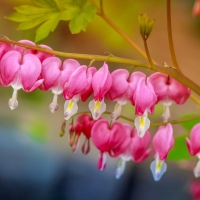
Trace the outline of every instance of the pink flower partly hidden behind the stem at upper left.
<path fill-rule="evenodd" d="M 34 42 L 29 41 L 29 40 L 20 40 L 18 42 L 23 43 L 23 44 L 27 44 L 27 45 L 31 45 L 31 46 L 36 46 L 36 44 Z M 44 44 L 40 44 L 38 46 L 42 47 L 44 49 L 52 50 L 51 47 L 49 47 L 47 45 L 44 45 Z M 54 57 L 53 54 L 42 52 L 42 51 L 38 51 L 38 50 L 34 50 L 34 49 L 26 49 L 26 48 L 21 47 L 21 46 L 14 46 L 14 50 L 19 51 L 21 54 L 33 54 L 33 55 L 35 55 L 36 57 L 39 58 L 39 60 L 40 60 L 41 63 L 46 58 Z"/>

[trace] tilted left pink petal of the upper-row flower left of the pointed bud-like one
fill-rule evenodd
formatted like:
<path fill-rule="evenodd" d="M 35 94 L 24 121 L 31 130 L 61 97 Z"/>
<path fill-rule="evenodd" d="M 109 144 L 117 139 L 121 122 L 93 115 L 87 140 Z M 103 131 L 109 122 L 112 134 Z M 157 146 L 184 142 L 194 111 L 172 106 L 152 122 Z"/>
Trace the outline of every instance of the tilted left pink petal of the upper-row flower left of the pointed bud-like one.
<path fill-rule="evenodd" d="M 64 86 L 63 96 L 65 99 L 70 100 L 87 87 L 86 70 L 87 66 L 83 65 L 71 74 L 68 83 Z"/>

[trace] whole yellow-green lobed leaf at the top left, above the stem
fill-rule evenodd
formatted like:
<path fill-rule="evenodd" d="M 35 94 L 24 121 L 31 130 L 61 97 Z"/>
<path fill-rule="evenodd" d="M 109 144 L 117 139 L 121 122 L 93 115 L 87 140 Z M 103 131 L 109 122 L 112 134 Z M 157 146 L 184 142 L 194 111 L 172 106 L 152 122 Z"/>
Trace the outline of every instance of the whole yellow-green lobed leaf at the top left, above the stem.
<path fill-rule="evenodd" d="M 7 19 L 19 22 L 18 30 L 39 26 L 35 41 L 38 42 L 54 31 L 60 20 L 70 21 L 72 33 L 86 31 L 87 23 L 97 19 L 96 8 L 88 0 L 32 0 L 35 6 L 16 7 Z"/>

